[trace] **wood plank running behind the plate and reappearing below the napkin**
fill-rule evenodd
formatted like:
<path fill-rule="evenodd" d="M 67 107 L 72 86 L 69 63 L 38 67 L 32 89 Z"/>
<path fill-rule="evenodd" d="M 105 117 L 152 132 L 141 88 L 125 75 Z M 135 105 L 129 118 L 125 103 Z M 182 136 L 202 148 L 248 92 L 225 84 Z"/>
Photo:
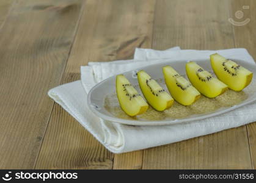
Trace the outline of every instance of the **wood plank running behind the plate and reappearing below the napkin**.
<path fill-rule="evenodd" d="M 230 1 L 157 1 L 153 48 L 234 47 Z M 186 5 L 185 5 L 186 4 Z M 182 12 L 182 13 L 181 13 Z M 145 149 L 143 169 L 251 168 L 246 126 Z"/>

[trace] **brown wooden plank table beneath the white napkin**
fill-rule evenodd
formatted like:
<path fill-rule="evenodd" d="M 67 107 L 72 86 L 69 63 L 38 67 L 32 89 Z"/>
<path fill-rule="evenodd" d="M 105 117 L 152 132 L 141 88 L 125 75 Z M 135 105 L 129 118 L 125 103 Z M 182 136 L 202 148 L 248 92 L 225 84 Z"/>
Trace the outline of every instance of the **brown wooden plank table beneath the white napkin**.
<path fill-rule="evenodd" d="M 254 0 L 1 0 L 0 168 L 255 168 L 256 123 L 113 154 L 47 96 L 78 80 L 81 65 L 131 59 L 136 47 L 243 47 L 256 58 L 255 7 Z M 251 21 L 233 26 L 228 18 Z"/>

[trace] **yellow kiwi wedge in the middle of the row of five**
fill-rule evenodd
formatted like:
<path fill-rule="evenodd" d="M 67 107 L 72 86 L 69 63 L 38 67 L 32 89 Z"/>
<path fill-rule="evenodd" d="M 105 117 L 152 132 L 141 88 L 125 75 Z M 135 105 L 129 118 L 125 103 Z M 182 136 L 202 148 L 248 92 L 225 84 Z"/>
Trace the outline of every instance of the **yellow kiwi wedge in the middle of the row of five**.
<path fill-rule="evenodd" d="M 170 95 L 184 106 L 190 106 L 200 98 L 200 93 L 184 77 L 180 76 L 171 66 L 163 67 L 164 80 Z"/>

